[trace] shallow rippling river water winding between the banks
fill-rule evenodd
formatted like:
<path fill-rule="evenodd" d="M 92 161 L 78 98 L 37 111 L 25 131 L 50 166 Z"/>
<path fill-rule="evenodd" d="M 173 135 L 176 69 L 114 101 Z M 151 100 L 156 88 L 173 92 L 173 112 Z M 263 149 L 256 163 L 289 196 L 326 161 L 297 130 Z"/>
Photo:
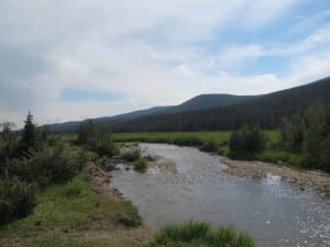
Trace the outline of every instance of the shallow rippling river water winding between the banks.
<path fill-rule="evenodd" d="M 114 170 L 111 182 L 150 227 L 197 220 L 248 232 L 260 247 L 330 246 L 329 195 L 277 176 L 230 176 L 218 156 L 197 148 L 140 146 L 145 155 L 161 156 L 158 164 L 173 166 L 153 166 L 145 173 Z"/>

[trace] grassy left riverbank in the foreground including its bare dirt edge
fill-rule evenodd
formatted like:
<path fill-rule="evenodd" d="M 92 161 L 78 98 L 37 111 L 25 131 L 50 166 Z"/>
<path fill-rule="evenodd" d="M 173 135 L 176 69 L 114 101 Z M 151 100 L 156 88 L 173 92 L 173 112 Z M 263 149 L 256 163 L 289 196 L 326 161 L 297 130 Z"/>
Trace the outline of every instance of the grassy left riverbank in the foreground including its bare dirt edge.
<path fill-rule="evenodd" d="M 69 182 L 47 188 L 37 201 L 31 215 L 2 226 L 0 246 L 136 246 L 152 236 L 136 207 L 94 162 Z"/>

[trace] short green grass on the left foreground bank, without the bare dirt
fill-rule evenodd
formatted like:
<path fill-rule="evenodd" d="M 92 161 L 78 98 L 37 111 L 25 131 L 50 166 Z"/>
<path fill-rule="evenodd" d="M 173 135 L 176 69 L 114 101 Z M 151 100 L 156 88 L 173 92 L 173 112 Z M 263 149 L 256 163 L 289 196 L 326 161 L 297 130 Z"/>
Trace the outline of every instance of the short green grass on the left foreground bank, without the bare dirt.
<path fill-rule="evenodd" d="M 37 240 L 40 240 L 40 236 L 47 236 L 50 232 L 72 233 L 89 229 L 97 222 L 112 222 L 122 225 L 123 216 L 131 225 L 141 224 L 138 210 L 130 201 L 110 200 L 102 197 L 90 188 L 87 178 L 88 170 L 85 169 L 72 181 L 51 186 L 40 193 L 33 214 L 13 222 L 0 231 L 0 246 L 26 246 L 25 244 L 29 242 L 31 242 L 31 246 L 70 246 L 59 245 L 58 239 L 52 239 L 52 235 L 44 238 L 42 245 L 38 245 Z M 73 246 L 79 246 L 79 240 L 70 239 L 70 237 L 64 236 L 65 234 L 62 235 L 64 243 L 76 242 L 77 244 Z M 25 240 L 18 244 L 13 242 L 14 238 Z M 95 245 L 87 243 L 82 246 Z"/>

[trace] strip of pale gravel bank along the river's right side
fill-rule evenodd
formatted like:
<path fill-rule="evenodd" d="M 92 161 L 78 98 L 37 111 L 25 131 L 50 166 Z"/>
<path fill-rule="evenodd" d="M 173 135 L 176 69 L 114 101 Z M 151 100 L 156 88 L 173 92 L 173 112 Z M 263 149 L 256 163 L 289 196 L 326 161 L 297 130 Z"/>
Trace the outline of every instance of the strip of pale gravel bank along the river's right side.
<path fill-rule="evenodd" d="M 264 178 L 267 173 L 273 173 L 280 176 L 289 182 L 296 182 L 301 186 L 312 186 L 322 192 L 330 193 L 330 176 L 327 173 L 300 170 L 262 161 L 232 160 L 227 157 L 222 157 L 221 161 L 228 166 L 224 171 L 230 175 Z M 304 188 L 301 187 L 301 189 Z"/>

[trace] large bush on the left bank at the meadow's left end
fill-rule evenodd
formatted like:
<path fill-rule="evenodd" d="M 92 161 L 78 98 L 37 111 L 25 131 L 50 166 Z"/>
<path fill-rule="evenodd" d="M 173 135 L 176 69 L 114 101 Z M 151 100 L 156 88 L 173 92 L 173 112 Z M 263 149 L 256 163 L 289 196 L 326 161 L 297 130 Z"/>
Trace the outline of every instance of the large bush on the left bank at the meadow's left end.
<path fill-rule="evenodd" d="M 110 130 L 107 126 L 95 123 L 91 120 L 81 123 L 77 143 L 101 156 L 113 156 L 118 153 L 110 138 Z"/>

